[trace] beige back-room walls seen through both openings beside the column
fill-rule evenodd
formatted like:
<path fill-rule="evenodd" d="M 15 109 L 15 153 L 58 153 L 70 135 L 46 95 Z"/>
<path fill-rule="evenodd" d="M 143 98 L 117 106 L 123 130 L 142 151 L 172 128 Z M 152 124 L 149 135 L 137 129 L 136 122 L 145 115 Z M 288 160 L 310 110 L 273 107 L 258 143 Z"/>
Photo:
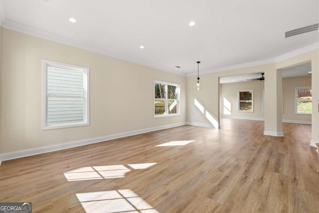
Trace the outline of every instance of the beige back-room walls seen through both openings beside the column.
<path fill-rule="evenodd" d="M 306 121 L 311 122 L 311 115 L 295 114 L 295 87 L 311 86 L 311 76 L 283 78 L 283 120 L 286 121 Z M 237 111 L 237 91 L 238 90 L 254 90 L 254 112 L 238 112 Z M 228 83 L 221 85 L 221 115 L 246 117 L 254 119 L 263 119 L 262 113 L 262 90 L 264 82 L 249 81 L 239 83 Z M 224 98 L 231 103 L 231 114 L 224 114 Z"/>

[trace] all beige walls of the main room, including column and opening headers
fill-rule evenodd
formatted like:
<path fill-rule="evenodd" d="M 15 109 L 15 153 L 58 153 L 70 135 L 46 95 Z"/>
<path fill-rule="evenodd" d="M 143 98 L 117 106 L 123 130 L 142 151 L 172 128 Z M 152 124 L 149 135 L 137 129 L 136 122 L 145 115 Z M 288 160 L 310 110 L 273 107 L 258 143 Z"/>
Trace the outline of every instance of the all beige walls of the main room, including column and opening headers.
<path fill-rule="evenodd" d="M 318 50 L 276 63 L 200 75 L 204 90 L 193 91 L 196 77 L 183 77 L 35 36 L 0 29 L 0 153 L 67 143 L 179 124 L 211 125 L 220 115 L 219 77 L 265 72 L 265 131 L 282 131 L 280 69 L 312 61 L 314 100 L 319 97 Z M 90 126 L 41 130 L 41 59 L 90 67 Z M 181 84 L 181 115 L 153 118 L 154 79 Z M 270 80 L 269 80 L 270 79 Z M 186 87 L 187 85 L 187 87 Z M 187 98 L 186 98 L 187 94 Z M 274 96 L 275 94 L 275 96 Z M 268 101 L 272 99 L 276 101 Z M 194 104 L 197 100 L 202 113 Z M 132 104 L 134 103 L 134 104 Z M 318 110 L 318 102 L 313 109 Z M 187 111 L 186 111 L 187 108 Z M 129 110 L 128 110 L 129 109 Z M 140 126 L 137 123 L 140 123 Z M 220 124 L 220 123 L 219 123 Z M 319 115 L 312 115 L 312 141 L 318 141 Z"/>

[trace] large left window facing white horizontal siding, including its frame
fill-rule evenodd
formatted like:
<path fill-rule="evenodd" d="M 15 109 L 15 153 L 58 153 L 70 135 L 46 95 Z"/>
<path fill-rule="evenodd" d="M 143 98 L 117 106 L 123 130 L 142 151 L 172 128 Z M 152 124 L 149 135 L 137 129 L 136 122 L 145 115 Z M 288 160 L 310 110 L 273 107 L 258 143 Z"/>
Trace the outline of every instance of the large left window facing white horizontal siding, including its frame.
<path fill-rule="evenodd" d="M 89 125 L 89 68 L 42 60 L 42 129 Z"/>

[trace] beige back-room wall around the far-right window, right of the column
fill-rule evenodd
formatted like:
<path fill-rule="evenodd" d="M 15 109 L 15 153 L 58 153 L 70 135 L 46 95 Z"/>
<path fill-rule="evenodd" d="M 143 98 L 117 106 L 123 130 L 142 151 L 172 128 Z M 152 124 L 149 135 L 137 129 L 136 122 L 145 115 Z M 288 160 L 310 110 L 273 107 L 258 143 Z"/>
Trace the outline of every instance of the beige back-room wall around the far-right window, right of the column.
<path fill-rule="evenodd" d="M 311 76 L 283 78 L 283 120 L 311 121 L 311 115 L 295 114 L 295 88 L 304 86 L 311 87 Z"/>

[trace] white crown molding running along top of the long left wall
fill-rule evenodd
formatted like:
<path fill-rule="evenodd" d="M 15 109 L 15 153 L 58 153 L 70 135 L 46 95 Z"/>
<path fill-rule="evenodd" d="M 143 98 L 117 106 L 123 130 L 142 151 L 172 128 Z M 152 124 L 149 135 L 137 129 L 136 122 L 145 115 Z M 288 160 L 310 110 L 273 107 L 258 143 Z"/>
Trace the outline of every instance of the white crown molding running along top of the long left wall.
<path fill-rule="evenodd" d="M 1 10 L 0 10 L 0 12 L 1 12 Z M 60 36 L 60 35 L 57 35 L 57 34 L 54 34 L 54 33 L 51 33 L 51 32 L 47 32 L 47 31 L 43 31 L 43 30 L 40 30 L 40 29 L 36 29 L 36 28 L 30 27 L 30 26 L 26 26 L 26 25 L 23 25 L 23 24 L 19 24 L 19 23 L 10 21 L 10 20 L 4 20 L 2 22 L 2 27 L 7 28 L 7 29 L 11 29 L 11 30 L 15 30 L 15 31 L 18 31 L 18 32 L 22 32 L 22 33 L 25 33 L 25 34 L 33 35 L 33 36 L 36 36 L 36 37 L 44 38 L 44 39 L 47 39 L 47 40 L 55 41 L 55 42 L 58 42 L 58 43 L 66 44 L 66 45 L 69 45 L 69 46 L 77 47 L 77 48 L 80 48 L 80 49 L 85 49 L 85 50 L 88 50 L 88 51 L 91 51 L 91 52 L 100 53 L 100 54 L 103 54 L 103 55 L 106 55 L 106 56 L 110 56 L 110 57 L 114 57 L 114 58 L 117 58 L 117 59 L 129 61 L 129 62 L 132 62 L 132 63 L 135 63 L 135 64 L 148 66 L 148 67 L 151 67 L 151 68 L 154 68 L 154 69 L 158 69 L 158 70 L 161 70 L 161 71 L 170 72 L 170 73 L 173 73 L 173 74 L 176 74 L 176 75 L 186 76 L 186 73 L 178 72 L 178 71 L 169 69 L 167 67 L 162 67 L 162 66 L 160 66 L 158 64 L 155 64 L 155 63 L 150 63 L 150 62 L 146 62 L 146 61 L 143 61 L 143 60 L 137 60 L 137 59 L 133 59 L 133 58 L 130 58 L 130 57 L 123 57 L 123 56 L 119 55 L 116 52 L 104 50 L 102 48 L 99 48 L 99 47 L 96 47 L 96 46 L 92 46 L 92 45 L 90 45 L 88 43 L 76 40 L 74 38 L 70 39 L 68 37 Z"/>

